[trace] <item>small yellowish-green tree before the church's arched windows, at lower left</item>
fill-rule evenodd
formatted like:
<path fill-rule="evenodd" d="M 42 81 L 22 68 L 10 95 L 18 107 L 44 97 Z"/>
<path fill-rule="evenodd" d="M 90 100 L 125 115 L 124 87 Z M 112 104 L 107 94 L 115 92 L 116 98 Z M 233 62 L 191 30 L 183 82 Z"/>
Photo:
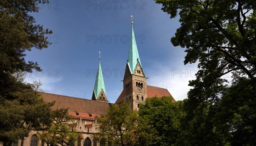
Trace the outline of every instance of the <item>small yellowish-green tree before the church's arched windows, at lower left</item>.
<path fill-rule="evenodd" d="M 47 146 L 69 146 L 77 140 L 81 140 L 78 132 L 72 129 L 72 117 L 68 115 L 68 109 L 57 109 L 52 111 L 52 124 L 48 126 L 45 132 L 38 132 L 41 140 L 47 143 Z"/>

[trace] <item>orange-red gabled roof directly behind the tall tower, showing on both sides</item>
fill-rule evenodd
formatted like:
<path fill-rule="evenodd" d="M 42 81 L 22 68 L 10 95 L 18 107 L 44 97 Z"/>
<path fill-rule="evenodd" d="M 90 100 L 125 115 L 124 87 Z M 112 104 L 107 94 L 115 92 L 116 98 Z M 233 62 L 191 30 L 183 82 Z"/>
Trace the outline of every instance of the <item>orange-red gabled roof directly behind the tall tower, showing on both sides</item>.
<path fill-rule="evenodd" d="M 169 91 L 167 89 L 149 86 L 149 85 L 147 85 L 147 96 L 148 96 L 147 98 L 152 98 L 155 96 L 157 96 L 158 98 L 163 97 L 163 96 L 171 96 L 172 97 L 172 95 L 169 93 Z M 124 98 L 124 93 L 122 91 L 122 93 L 117 98 L 115 104 L 122 102 L 123 98 Z M 173 97 L 172 97 L 172 102 L 176 102 Z"/>

